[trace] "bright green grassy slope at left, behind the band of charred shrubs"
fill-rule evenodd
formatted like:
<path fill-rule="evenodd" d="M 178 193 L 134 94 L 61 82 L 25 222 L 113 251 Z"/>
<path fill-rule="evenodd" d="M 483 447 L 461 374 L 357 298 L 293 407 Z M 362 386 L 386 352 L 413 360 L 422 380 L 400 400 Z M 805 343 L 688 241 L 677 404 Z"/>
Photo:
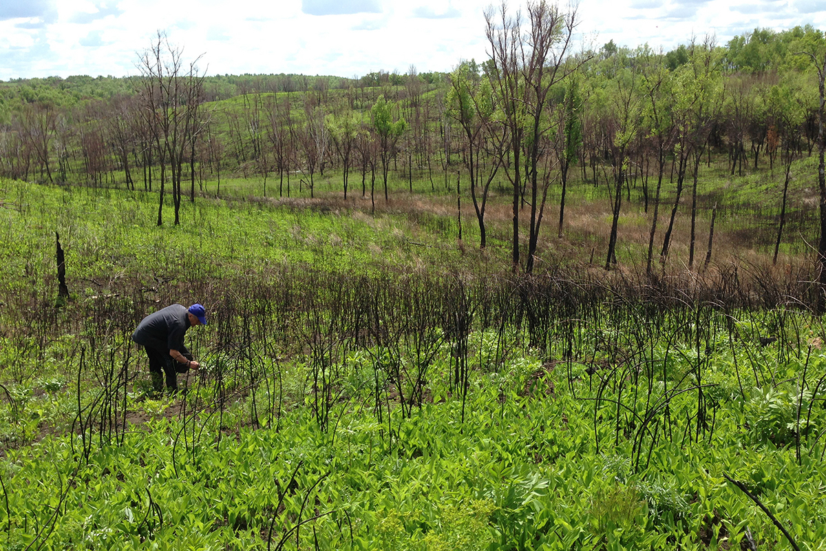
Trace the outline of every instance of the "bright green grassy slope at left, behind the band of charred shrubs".
<path fill-rule="evenodd" d="M 198 197 L 194 204 L 183 202 L 180 226 L 172 224 L 170 200 L 164 226 L 157 226 L 157 198 L 145 192 L 11 182 L 2 192 L 21 206 L 21 212 L 0 211 L 11 245 L 0 253 L 0 277 L 18 290 L 28 285 L 27 273 L 40 282 L 54 276 L 55 231 L 70 287 L 93 293 L 119 277 L 150 285 L 152 277 L 185 277 L 188 270 L 221 278 L 280 264 L 352 270 L 384 262 L 415 265 L 425 252 L 458 258 L 444 247 L 444 230 L 392 211 L 369 216 L 346 205 L 316 210 L 309 202 Z M 411 240 L 424 246 L 411 248 Z"/>

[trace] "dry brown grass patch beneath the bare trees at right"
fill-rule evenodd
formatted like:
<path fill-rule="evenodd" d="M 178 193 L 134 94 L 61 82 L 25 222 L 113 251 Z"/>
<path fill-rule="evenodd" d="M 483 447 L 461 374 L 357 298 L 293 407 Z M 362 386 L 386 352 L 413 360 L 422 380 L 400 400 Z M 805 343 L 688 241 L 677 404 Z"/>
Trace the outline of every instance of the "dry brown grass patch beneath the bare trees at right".
<path fill-rule="evenodd" d="M 312 211 L 330 212 L 343 216 L 353 216 L 364 221 L 376 230 L 400 233 L 402 230 L 388 221 L 385 215 L 405 216 L 414 233 L 432 234 L 425 226 L 432 226 L 433 221 L 444 224 L 443 235 L 446 245 L 461 249 L 463 254 L 478 252 L 477 220 L 472 203 L 463 197 L 462 224 L 464 239 L 457 240 L 455 197 L 447 195 L 410 195 L 396 192 L 389 202 L 383 194 L 377 193 L 375 209 L 369 197 L 361 197 L 360 192 L 351 193 L 347 200 L 340 193 L 325 194 L 316 199 L 268 199 L 273 205 L 293 209 L 311 209 Z M 739 278 L 755 283 L 756 288 L 771 287 L 769 294 L 778 297 L 785 291 L 791 292 L 802 284 L 814 279 L 813 264 L 810 255 L 782 254 L 777 265 L 771 263 L 773 252 L 773 232 L 775 228 L 764 225 L 755 229 L 754 221 L 738 220 L 733 216 L 718 216 L 714 228 L 714 242 L 710 264 L 705 266 L 710 230 L 710 211 L 701 209 L 695 227 L 695 251 L 693 269 L 688 267 L 691 204 L 684 197 L 677 211 L 668 259 L 665 266 L 659 263 L 662 240 L 671 216 L 672 204 L 663 200 L 659 208 L 657 232 L 653 246 L 653 265 L 660 278 L 667 278 L 672 283 L 691 287 L 723 287 L 721 278 L 731 277 L 737 273 Z M 527 247 L 530 210 L 525 206 L 520 210 L 520 241 L 524 250 Z M 539 271 L 545 271 L 559 264 L 577 266 L 577 270 L 596 270 L 604 273 L 605 254 L 611 226 L 611 211 L 608 201 L 568 202 L 565 211 L 563 237 L 558 237 L 558 204 L 550 198 L 546 204 L 537 251 L 536 265 Z M 644 273 L 650 225 L 653 217 L 653 205 L 644 212 L 641 205 L 625 202 L 619 217 L 617 258 L 619 265 L 615 268 L 618 277 L 631 278 Z M 496 264 L 506 267 L 510 263 L 510 240 L 512 231 L 512 211 L 510 197 L 491 195 L 485 214 L 489 248 L 484 259 L 475 260 L 489 263 L 496 259 Z M 425 226 L 422 226 L 425 225 Z M 417 226 L 420 228 L 416 230 Z M 402 237 L 396 235 L 396 237 Z M 814 241 L 814 237 L 813 237 Z M 476 253 L 474 253 L 476 251 Z M 378 246 L 374 254 L 382 254 Z M 807 258 L 808 257 L 808 258 Z M 423 267 L 424 268 L 424 267 Z M 767 283 L 767 282 L 773 283 Z M 748 287 L 748 286 L 747 286 Z M 748 287 L 751 288 L 751 287 Z M 800 289 L 797 289 L 800 291 Z M 751 292 L 751 291 L 747 291 Z"/>

